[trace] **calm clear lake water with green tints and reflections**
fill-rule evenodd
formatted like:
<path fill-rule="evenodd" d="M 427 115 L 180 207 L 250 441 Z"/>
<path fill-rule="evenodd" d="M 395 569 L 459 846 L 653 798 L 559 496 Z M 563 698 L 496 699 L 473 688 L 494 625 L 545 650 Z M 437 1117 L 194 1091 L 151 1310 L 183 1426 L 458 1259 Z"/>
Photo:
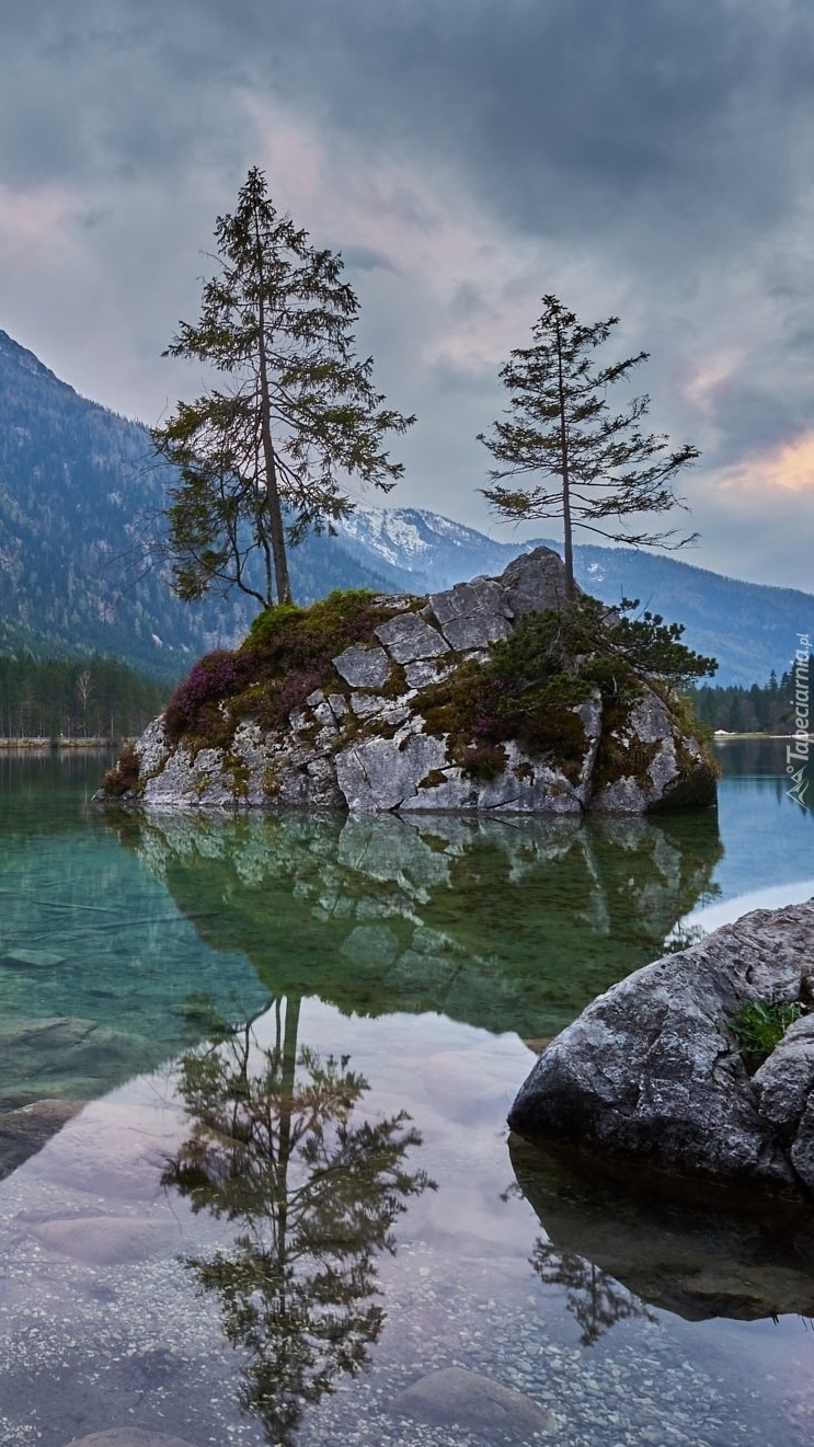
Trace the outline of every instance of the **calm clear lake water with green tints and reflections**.
<path fill-rule="evenodd" d="M 717 812 L 482 823 L 140 819 L 98 755 L 0 758 L 0 1444 L 810 1444 L 811 1223 L 504 1124 L 600 990 L 814 894 L 784 745 L 720 755 Z"/>

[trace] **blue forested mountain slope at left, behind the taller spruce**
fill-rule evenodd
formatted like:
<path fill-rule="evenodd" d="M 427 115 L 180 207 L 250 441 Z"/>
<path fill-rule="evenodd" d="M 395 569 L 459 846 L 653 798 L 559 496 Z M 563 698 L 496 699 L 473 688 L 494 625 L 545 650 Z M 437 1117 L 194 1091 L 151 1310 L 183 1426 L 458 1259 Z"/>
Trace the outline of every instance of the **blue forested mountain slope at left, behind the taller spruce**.
<path fill-rule="evenodd" d="M 0 331 L 0 653 L 116 654 L 178 677 L 242 637 L 248 598 L 181 603 L 155 550 L 171 479 L 139 423 L 88 402 Z M 388 587 L 314 538 L 293 569 L 300 596 Z"/>

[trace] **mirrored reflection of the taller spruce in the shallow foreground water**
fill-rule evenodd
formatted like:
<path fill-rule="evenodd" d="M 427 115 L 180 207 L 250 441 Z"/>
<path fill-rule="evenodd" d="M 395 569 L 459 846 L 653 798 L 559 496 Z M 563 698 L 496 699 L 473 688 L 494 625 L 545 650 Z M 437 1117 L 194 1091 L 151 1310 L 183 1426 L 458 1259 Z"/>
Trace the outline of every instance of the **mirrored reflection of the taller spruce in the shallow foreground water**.
<path fill-rule="evenodd" d="M 274 1045 L 249 1022 L 182 1058 L 193 1126 L 162 1174 L 194 1213 L 239 1224 L 229 1247 L 187 1265 L 248 1351 L 243 1406 L 285 1447 L 304 1406 L 368 1360 L 384 1323 L 377 1253 L 395 1250 L 407 1198 L 435 1189 L 406 1168 L 421 1143 L 407 1113 L 356 1120 L 368 1082 L 349 1056 L 297 1049 L 298 1016 L 298 1000 L 277 1000 Z"/>

